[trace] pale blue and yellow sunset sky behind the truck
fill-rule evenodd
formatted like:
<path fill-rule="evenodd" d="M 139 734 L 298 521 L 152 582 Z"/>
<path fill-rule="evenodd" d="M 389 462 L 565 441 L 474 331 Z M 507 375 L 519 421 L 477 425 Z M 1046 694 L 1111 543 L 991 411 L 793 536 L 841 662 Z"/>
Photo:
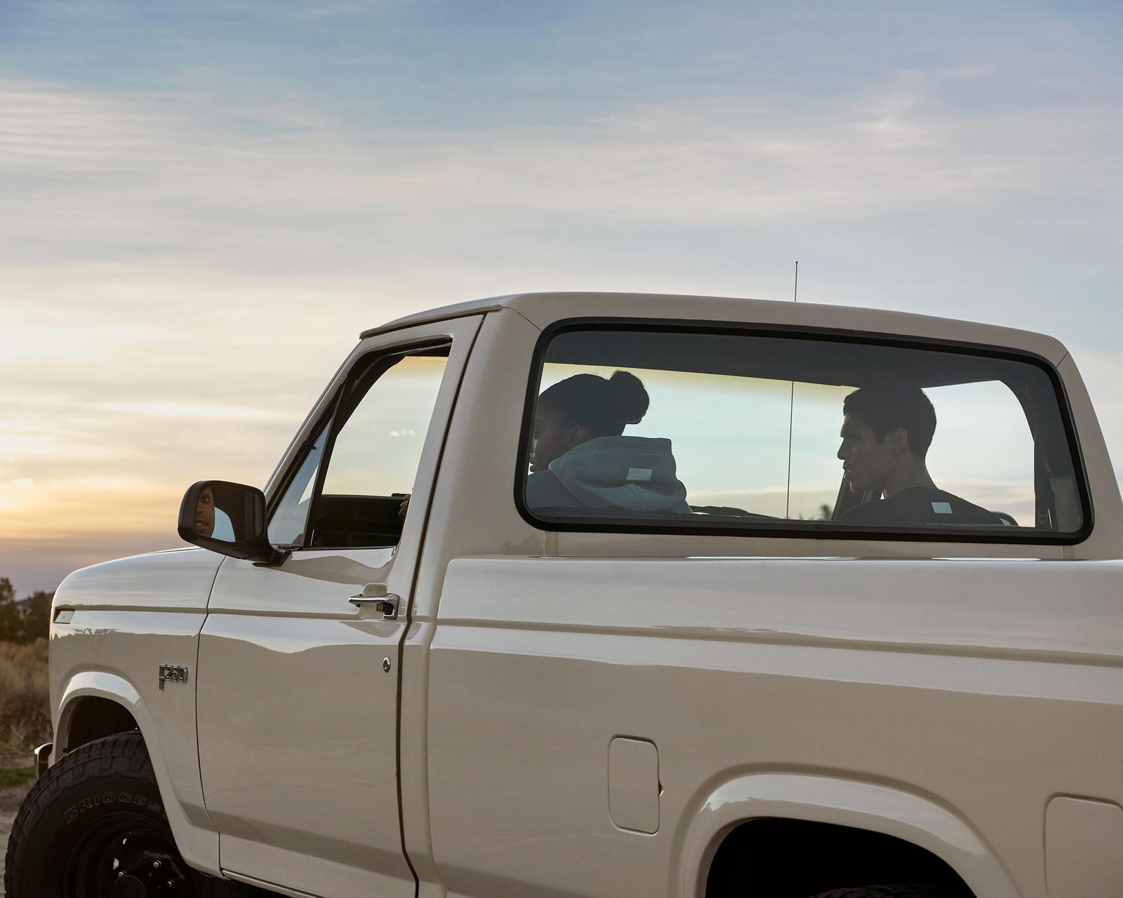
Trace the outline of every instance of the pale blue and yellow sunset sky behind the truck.
<path fill-rule="evenodd" d="M 358 333 L 523 290 L 1041 330 L 1123 471 L 1117 2 L 0 3 L 0 577 L 182 545 Z"/>

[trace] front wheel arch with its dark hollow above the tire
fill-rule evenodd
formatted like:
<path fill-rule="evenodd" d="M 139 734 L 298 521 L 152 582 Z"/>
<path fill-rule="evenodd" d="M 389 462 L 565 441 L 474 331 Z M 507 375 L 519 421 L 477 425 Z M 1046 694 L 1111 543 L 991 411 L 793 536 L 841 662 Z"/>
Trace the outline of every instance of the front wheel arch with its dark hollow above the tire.
<path fill-rule="evenodd" d="M 131 727 L 125 726 L 128 722 L 131 722 Z M 193 725 L 192 720 L 192 740 Z M 109 671 L 85 670 L 74 673 L 66 681 L 54 724 L 55 749 L 52 763 L 63 755 L 64 747 L 65 751 L 73 751 L 92 740 L 131 728 L 139 731 L 148 750 L 167 822 L 180 853 L 192 867 L 204 873 L 219 876 L 218 832 L 201 807 L 201 792 L 199 807 L 184 801 L 184 796 L 168 771 L 159 741 L 159 727 L 153 720 L 139 690 L 129 680 Z"/>

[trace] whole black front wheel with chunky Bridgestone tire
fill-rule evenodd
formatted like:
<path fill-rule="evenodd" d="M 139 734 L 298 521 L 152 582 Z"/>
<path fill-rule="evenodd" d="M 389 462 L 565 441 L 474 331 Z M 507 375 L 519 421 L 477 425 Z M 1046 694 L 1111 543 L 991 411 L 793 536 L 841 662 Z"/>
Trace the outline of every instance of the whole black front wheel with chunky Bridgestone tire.
<path fill-rule="evenodd" d="M 74 750 L 31 788 L 12 824 L 8 898 L 245 898 L 175 847 L 137 732 Z"/>

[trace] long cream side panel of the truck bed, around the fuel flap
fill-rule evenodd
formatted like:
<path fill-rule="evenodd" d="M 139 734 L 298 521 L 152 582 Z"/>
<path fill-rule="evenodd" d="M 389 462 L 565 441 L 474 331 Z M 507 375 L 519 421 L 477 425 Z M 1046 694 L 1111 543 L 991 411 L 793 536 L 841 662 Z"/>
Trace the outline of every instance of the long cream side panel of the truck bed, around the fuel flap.
<path fill-rule="evenodd" d="M 732 800 L 722 783 L 767 773 L 938 796 L 1034 895 L 1050 797 L 1123 800 L 1105 750 L 1123 738 L 1119 564 L 1088 568 L 1072 596 L 1065 562 L 454 561 L 429 674 L 441 879 L 464 895 L 682 894 L 684 829 Z M 658 746 L 654 836 L 610 819 L 620 735 Z M 754 800 L 742 810 L 767 816 Z"/>

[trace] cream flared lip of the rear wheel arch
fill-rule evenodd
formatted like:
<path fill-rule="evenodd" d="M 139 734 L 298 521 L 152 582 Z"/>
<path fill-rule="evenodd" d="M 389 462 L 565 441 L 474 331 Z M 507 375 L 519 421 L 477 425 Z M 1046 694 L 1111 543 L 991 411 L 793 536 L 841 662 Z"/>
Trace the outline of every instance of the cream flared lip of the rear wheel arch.
<path fill-rule="evenodd" d="M 935 800 L 896 786 L 807 773 L 731 777 L 692 802 L 677 851 L 677 891 L 703 898 L 718 851 L 743 824 L 764 818 L 829 824 L 892 836 L 946 863 L 977 896 L 1019 898 L 982 834 Z"/>

